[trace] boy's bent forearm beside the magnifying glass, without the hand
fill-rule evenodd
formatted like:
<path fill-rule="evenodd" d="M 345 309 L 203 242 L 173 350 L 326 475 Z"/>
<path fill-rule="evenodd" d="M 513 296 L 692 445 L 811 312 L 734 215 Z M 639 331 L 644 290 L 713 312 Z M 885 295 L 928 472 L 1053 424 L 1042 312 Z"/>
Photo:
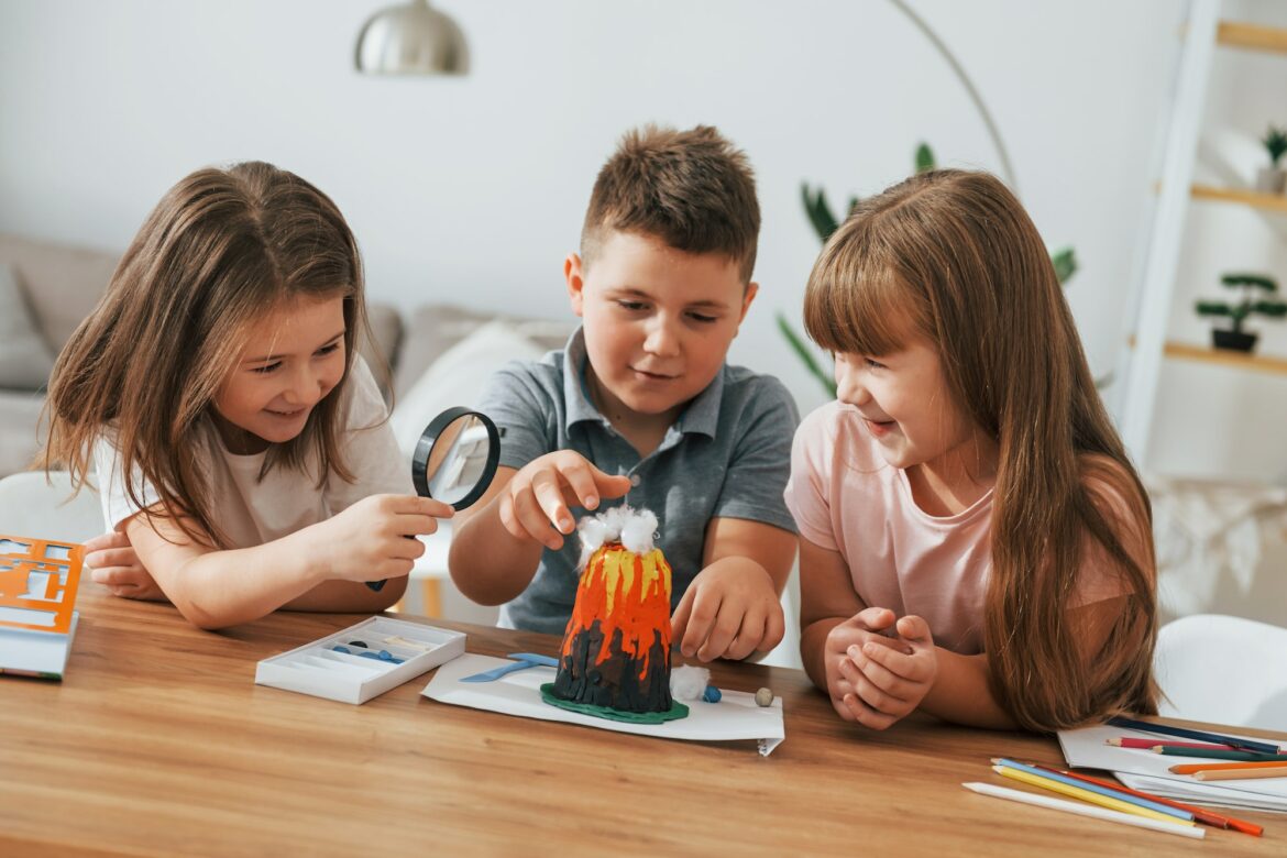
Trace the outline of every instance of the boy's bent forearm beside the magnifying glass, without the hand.
<path fill-rule="evenodd" d="M 517 597 L 541 563 L 543 545 L 516 538 L 501 521 L 501 495 L 517 472 L 498 467 L 486 493 L 453 518 L 447 566 L 461 594 L 479 605 L 502 605 Z"/>

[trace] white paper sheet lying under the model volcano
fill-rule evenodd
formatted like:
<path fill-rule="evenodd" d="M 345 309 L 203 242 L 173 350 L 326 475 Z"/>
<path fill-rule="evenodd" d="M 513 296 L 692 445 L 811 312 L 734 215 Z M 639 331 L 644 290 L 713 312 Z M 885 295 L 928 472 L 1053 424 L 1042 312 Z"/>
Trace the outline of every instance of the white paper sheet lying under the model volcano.
<path fill-rule="evenodd" d="M 430 700 L 471 709 L 488 709 L 506 715 L 561 720 L 583 727 L 597 727 L 620 733 L 683 738 L 690 741 L 755 740 L 763 756 L 772 754 L 782 744 L 786 732 L 782 726 L 782 700 L 775 697 L 771 706 L 757 706 L 755 696 L 744 691 L 723 691 L 719 702 L 700 700 L 683 701 L 689 717 L 662 724 L 631 724 L 595 718 L 551 706 L 541 698 L 541 686 L 553 682 L 553 668 L 519 670 L 493 682 L 461 682 L 461 677 L 483 673 L 492 668 L 512 664 L 508 659 L 494 659 L 466 652 L 438 669 L 421 692 Z"/>

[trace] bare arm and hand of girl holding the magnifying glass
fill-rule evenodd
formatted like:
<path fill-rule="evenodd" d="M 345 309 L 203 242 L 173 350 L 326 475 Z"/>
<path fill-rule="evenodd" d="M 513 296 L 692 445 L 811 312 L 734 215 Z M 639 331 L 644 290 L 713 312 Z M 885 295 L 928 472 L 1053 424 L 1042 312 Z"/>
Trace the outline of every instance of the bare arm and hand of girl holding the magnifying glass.
<path fill-rule="evenodd" d="M 381 611 L 402 597 L 405 576 L 450 507 L 414 495 L 372 495 L 327 521 L 254 548 L 194 544 L 163 517 L 136 515 L 126 533 L 139 560 L 193 624 L 218 629 L 279 607 Z M 390 580 L 378 593 L 364 581 Z"/>

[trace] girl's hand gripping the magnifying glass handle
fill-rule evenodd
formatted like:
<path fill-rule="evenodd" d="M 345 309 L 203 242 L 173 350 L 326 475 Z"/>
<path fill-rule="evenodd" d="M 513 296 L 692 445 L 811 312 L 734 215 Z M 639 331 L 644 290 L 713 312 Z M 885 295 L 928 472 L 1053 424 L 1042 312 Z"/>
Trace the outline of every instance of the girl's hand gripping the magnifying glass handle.
<path fill-rule="evenodd" d="M 431 498 L 376 494 L 338 515 L 295 533 L 322 580 L 378 581 L 409 575 L 425 544 L 416 536 L 438 530 L 450 506 Z"/>

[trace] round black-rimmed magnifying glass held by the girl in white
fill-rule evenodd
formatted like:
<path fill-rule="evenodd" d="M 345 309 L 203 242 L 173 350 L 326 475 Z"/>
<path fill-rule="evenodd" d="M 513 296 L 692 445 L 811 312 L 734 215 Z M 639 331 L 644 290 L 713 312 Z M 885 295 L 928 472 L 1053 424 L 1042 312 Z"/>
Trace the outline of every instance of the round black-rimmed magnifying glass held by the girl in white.
<path fill-rule="evenodd" d="M 411 480 L 420 497 L 465 509 L 486 493 L 499 461 L 501 434 L 492 418 L 471 408 L 448 408 L 421 432 L 411 457 Z M 384 585 L 367 581 L 376 592 Z"/>

